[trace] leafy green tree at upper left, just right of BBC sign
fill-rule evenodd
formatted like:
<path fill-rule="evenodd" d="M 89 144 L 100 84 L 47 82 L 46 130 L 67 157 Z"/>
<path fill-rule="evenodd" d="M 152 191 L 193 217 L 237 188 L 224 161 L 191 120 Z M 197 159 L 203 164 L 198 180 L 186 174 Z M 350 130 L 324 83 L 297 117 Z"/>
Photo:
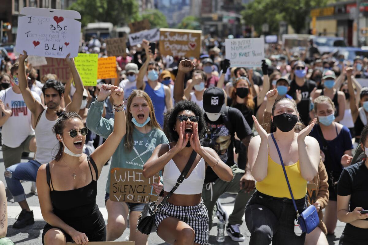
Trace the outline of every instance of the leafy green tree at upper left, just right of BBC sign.
<path fill-rule="evenodd" d="M 81 14 L 82 26 L 91 22 L 124 25 L 138 18 L 139 6 L 135 0 L 77 0 L 69 9 Z"/>

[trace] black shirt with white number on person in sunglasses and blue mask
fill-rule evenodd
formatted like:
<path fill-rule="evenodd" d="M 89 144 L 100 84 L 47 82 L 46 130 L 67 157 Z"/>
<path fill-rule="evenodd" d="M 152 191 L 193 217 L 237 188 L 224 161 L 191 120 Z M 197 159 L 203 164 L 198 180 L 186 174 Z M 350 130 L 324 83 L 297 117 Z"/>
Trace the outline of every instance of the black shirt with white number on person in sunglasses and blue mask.
<path fill-rule="evenodd" d="M 316 83 L 312 80 L 306 80 L 304 85 L 302 87 L 298 86 L 295 80 L 292 80 L 290 83 L 290 90 L 287 92 L 290 96 L 296 100 L 296 91 L 301 91 L 301 101 L 297 105 L 299 115 L 301 120 L 303 121 L 304 125 L 307 126 L 309 124 L 309 120 L 311 118 L 309 117 L 309 106 L 310 106 L 310 100 L 309 97 L 311 96 L 312 90 L 316 87 Z"/>

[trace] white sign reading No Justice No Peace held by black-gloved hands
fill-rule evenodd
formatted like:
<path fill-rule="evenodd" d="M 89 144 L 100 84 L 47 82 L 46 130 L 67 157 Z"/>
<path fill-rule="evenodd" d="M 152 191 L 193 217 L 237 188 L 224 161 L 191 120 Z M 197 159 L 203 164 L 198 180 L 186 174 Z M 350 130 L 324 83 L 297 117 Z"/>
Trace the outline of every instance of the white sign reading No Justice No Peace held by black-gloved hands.
<path fill-rule="evenodd" d="M 225 39 L 226 58 L 231 67 L 261 66 L 265 59 L 263 38 Z"/>

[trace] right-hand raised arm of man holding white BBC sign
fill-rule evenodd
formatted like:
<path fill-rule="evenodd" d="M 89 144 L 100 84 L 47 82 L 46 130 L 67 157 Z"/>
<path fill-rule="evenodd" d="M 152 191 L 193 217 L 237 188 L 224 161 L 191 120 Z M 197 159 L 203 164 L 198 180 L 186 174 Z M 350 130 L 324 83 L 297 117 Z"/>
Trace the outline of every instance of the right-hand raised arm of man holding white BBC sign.
<path fill-rule="evenodd" d="M 72 101 L 67 105 L 66 103 L 66 110 L 67 111 L 75 111 L 79 112 L 79 109 L 81 108 L 82 99 L 83 99 L 83 83 L 81 76 L 79 76 L 78 70 L 75 67 L 74 64 L 74 58 L 69 58 L 69 55 L 65 58 L 65 61 L 67 62 L 69 69 L 71 71 L 71 75 L 73 77 L 74 86 L 75 86 L 75 93 L 73 95 Z"/>

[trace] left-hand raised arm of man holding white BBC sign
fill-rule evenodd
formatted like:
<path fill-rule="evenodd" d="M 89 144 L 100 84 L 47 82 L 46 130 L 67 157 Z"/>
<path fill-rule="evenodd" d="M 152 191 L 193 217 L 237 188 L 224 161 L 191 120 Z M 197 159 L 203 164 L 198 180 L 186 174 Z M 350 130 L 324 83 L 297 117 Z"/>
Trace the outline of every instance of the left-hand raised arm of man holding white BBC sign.
<path fill-rule="evenodd" d="M 43 105 L 36 100 L 31 90 L 28 88 L 27 76 L 25 74 L 24 61 L 28 57 L 27 52 L 23 50 L 24 54 L 19 55 L 19 70 L 18 70 L 18 80 L 19 89 L 21 90 L 24 102 L 27 108 L 32 112 L 34 118 L 38 118 L 39 114 L 43 111 Z"/>

